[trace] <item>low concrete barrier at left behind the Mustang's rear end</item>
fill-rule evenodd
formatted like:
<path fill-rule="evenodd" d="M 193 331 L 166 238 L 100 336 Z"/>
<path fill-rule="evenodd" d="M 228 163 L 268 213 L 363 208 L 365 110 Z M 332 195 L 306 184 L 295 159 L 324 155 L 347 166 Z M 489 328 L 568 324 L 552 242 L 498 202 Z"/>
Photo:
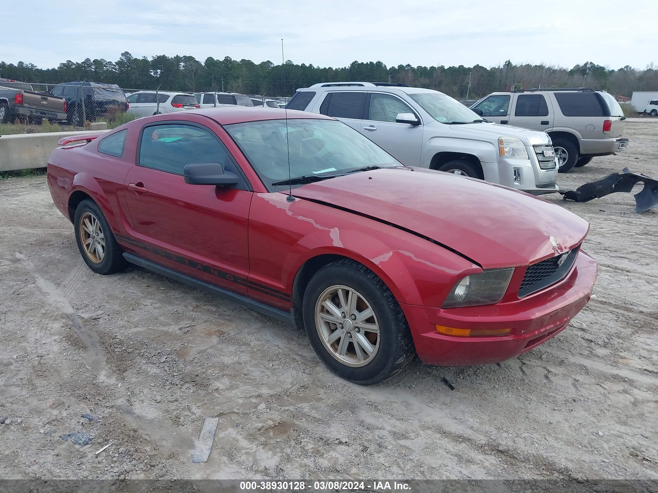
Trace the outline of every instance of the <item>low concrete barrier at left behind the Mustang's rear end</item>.
<path fill-rule="evenodd" d="M 59 139 L 80 133 L 105 133 L 105 130 L 0 135 L 0 171 L 45 168 Z"/>

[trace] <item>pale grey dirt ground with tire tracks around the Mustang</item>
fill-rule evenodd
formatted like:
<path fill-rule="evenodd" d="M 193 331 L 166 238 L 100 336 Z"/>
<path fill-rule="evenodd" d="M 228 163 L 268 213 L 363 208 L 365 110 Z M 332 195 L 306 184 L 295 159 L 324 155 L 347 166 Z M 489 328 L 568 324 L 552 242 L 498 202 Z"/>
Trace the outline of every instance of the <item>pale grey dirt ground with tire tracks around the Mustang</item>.
<path fill-rule="evenodd" d="M 657 123 L 628 122 L 628 151 L 561 187 L 658 177 Z M 657 479 L 658 209 L 547 199 L 590 222 L 600 267 L 570 326 L 503 364 L 359 387 L 278 321 L 137 268 L 95 275 L 45 176 L 1 181 L 0 476 Z M 192 463 L 205 416 L 213 452 Z"/>

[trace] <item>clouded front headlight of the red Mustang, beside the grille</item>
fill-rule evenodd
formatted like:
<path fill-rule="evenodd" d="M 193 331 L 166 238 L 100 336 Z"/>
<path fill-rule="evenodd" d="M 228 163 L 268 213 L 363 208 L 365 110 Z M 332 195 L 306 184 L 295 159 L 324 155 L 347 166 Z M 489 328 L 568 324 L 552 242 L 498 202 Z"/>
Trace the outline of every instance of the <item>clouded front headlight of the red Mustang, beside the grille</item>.
<path fill-rule="evenodd" d="M 442 308 L 488 305 L 503 299 L 514 268 L 486 270 L 461 279 L 445 298 Z"/>

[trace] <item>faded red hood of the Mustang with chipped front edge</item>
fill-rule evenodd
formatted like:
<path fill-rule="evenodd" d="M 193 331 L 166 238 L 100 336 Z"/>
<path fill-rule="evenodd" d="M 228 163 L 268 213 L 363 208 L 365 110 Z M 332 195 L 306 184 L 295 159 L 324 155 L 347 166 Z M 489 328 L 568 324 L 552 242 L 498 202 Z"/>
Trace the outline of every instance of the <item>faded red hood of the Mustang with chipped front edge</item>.
<path fill-rule="evenodd" d="M 501 185 L 425 168 L 383 168 L 309 183 L 295 197 L 428 237 L 482 268 L 523 266 L 578 245 L 588 222 Z"/>

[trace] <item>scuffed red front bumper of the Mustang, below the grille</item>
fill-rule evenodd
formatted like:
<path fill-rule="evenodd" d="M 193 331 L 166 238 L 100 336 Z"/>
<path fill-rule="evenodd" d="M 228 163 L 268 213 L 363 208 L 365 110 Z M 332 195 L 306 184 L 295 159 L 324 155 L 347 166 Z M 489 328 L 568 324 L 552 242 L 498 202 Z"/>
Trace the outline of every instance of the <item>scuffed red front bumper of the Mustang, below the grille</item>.
<path fill-rule="evenodd" d="M 401 304 L 422 362 L 438 366 L 499 363 L 542 344 L 567 327 L 590 300 L 596 281 L 595 260 L 578 252 L 565 279 L 530 296 L 510 302 L 465 308 L 428 308 Z M 505 329 L 507 336 L 452 337 L 436 325 L 458 329 Z"/>

